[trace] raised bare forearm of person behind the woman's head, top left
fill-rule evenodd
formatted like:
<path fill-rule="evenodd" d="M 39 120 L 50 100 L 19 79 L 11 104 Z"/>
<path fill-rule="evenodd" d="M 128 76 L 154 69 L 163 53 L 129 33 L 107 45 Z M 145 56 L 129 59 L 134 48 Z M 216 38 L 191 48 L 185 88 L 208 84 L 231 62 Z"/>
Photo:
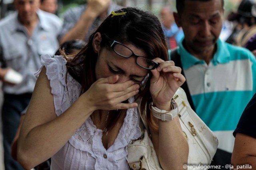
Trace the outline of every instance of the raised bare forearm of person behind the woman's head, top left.
<path fill-rule="evenodd" d="M 111 0 L 88 0 L 86 10 L 75 26 L 60 39 L 60 44 L 74 39 L 84 40 L 94 20 L 108 10 L 110 2 Z"/>

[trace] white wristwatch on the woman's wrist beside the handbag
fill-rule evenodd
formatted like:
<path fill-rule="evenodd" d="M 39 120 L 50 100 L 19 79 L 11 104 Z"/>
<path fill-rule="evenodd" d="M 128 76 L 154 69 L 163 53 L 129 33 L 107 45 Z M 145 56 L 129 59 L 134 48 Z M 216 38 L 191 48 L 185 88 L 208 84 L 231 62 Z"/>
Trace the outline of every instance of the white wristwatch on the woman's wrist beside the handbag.
<path fill-rule="evenodd" d="M 171 107 L 171 111 L 160 110 L 157 107 L 154 107 L 153 102 L 150 103 L 152 115 L 162 121 L 172 121 L 174 117 L 178 115 L 178 105 L 173 98 L 171 100 Z"/>

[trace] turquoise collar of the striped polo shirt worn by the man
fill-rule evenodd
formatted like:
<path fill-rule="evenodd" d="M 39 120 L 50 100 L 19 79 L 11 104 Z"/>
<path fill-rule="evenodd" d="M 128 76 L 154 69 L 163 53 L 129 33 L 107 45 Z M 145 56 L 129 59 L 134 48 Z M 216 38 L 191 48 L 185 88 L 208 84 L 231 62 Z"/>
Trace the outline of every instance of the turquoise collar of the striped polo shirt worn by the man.
<path fill-rule="evenodd" d="M 184 38 L 181 40 L 183 42 Z M 230 52 L 228 51 L 227 45 L 222 42 L 220 39 L 217 40 L 217 51 L 214 54 L 213 59 L 211 60 L 213 65 L 218 63 L 228 63 L 230 61 Z M 182 67 L 188 69 L 193 65 L 204 64 L 204 60 L 200 60 L 194 55 L 191 55 L 183 46 L 182 43 L 179 44 L 178 53 L 181 56 Z"/>

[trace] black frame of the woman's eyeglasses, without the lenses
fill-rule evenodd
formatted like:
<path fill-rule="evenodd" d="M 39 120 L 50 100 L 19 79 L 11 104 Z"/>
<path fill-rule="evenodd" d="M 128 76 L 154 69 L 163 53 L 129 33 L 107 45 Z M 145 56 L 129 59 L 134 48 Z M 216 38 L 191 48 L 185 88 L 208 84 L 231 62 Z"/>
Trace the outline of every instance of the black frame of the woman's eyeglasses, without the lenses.
<path fill-rule="evenodd" d="M 159 64 L 158 64 L 156 61 L 153 61 L 152 59 L 148 59 L 147 57 L 143 57 L 143 56 L 141 56 L 141 55 L 137 55 L 137 54 L 135 54 L 135 53 L 132 51 L 132 49 L 130 49 L 130 48 L 127 47 L 126 45 L 124 45 L 124 44 L 122 44 L 122 43 L 120 43 L 120 42 L 117 42 L 117 41 L 115 41 L 115 40 L 112 40 L 111 38 L 109 38 L 108 36 L 106 36 L 106 34 L 103 34 L 103 35 L 108 39 L 108 43 L 110 44 L 110 47 L 113 49 L 113 51 L 114 51 L 117 55 L 119 55 L 119 56 L 121 56 L 121 57 L 124 57 L 124 58 L 130 58 L 130 57 L 132 57 L 132 56 L 136 57 L 136 64 L 139 65 L 140 67 L 144 68 L 144 69 L 153 70 L 153 69 L 155 69 L 155 68 L 158 67 Z M 114 49 L 114 47 L 115 47 L 116 44 L 120 44 L 120 45 L 123 45 L 124 47 L 128 48 L 130 51 L 132 51 L 132 54 L 131 54 L 129 57 L 127 57 L 127 56 L 125 56 L 125 55 L 122 55 L 122 54 L 116 52 L 115 49 Z M 138 62 L 137 62 L 137 58 L 138 58 L 138 57 L 143 57 L 143 58 L 145 58 L 145 59 L 147 59 L 147 60 L 150 60 L 152 63 L 154 63 L 154 66 L 153 66 L 152 68 L 143 67 L 142 65 L 138 64 Z"/>

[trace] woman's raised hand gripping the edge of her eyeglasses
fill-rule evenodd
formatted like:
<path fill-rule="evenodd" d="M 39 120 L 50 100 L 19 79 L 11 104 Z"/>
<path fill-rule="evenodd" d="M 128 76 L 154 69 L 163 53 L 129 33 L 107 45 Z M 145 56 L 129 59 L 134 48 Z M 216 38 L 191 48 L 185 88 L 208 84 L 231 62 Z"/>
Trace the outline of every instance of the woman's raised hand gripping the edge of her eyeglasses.
<path fill-rule="evenodd" d="M 164 61 L 160 58 L 155 58 L 154 61 L 160 65 L 151 70 L 153 75 L 150 79 L 150 93 L 154 105 L 164 109 L 170 107 L 173 95 L 186 79 L 181 74 L 181 68 L 176 67 L 173 61 Z"/>

